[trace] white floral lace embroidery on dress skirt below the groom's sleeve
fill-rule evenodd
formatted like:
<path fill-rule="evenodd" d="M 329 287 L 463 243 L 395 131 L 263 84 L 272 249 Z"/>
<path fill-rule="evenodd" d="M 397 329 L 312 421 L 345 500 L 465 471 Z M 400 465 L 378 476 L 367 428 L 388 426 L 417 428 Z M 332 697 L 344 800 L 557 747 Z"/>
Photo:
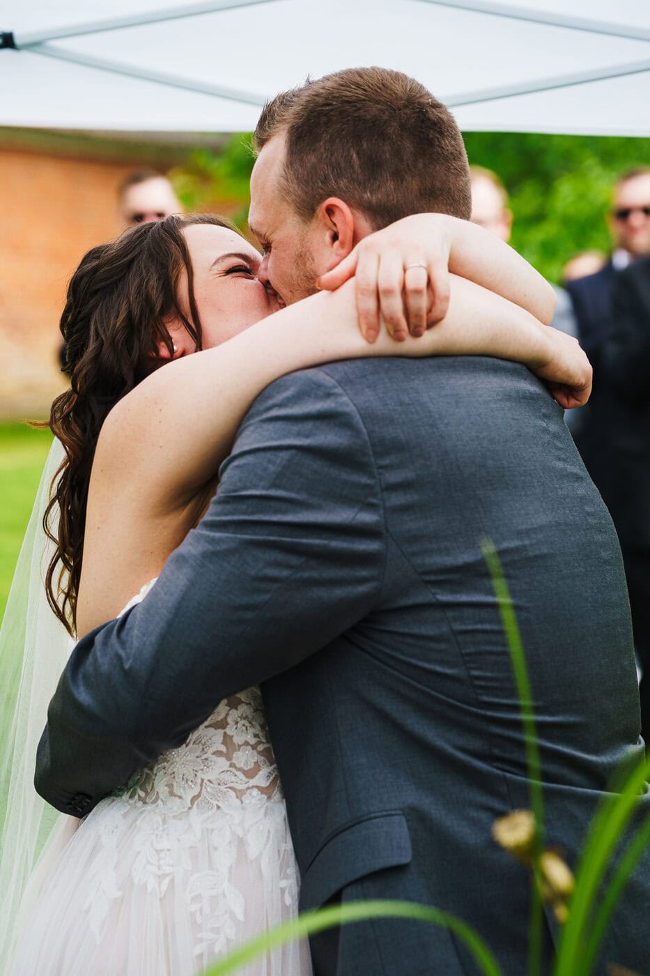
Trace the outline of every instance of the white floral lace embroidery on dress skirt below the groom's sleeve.
<path fill-rule="evenodd" d="M 103 851 L 87 903 L 98 940 L 123 894 L 125 818 L 136 852 L 129 882 L 160 899 L 183 884 L 196 956 L 219 955 L 235 937 L 246 909 L 237 859 L 254 863 L 249 872 L 297 910 L 296 867 L 258 688 L 221 702 L 183 746 L 164 752 L 87 818 L 82 830 L 95 819 Z"/>

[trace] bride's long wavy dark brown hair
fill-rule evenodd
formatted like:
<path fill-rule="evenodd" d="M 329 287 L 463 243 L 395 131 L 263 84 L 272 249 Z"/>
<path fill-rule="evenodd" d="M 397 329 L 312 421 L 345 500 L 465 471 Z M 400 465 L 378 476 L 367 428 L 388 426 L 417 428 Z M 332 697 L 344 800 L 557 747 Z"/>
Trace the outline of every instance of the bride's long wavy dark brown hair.
<path fill-rule="evenodd" d="M 112 407 L 162 360 L 159 345 L 174 346 L 165 325 L 179 319 L 201 348 L 192 265 L 183 235 L 190 224 L 235 229 L 211 215 L 173 216 L 125 231 L 94 247 L 70 279 L 61 315 L 63 371 L 70 388 L 52 404 L 49 426 L 65 457 L 53 481 L 44 528 L 55 552 L 46 573 L 48 602 L 74 634 L 86 527 L 88 486 L 102 424 Z M 177 290 L 187 275 L 189 316 Z M 58 519 L 57 519 L 58 516 Z"/>

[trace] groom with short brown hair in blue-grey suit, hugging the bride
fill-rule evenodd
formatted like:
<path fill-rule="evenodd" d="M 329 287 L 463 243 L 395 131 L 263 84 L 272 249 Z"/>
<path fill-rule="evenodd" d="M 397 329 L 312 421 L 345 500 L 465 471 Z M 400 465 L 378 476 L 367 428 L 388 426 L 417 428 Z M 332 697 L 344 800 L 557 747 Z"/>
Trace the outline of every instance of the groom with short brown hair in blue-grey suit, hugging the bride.
<path fill-rule="evenodd" d="M 372 229 L 469 215 L 451 115 L 396 72 L 285 93 L 256 142 L 251 223 L 287 302 Z M 467 921 L 521 976 L 528 877 L 491 828 L 529 792 L 486 537 L 531 675 L 548 845 L 573 863 L 615 769 L 643 751 L 628 598 L 562 411 L 524 367 L 496 359 L 355 360 L 269 386 L 198 529 L 142 604 L 72 655 L 37 789 L 87 813 L 220 699 L 262 683 L 302 908 L 424 902 Z M 603 965 L 643 970 L 647 865 L 627 895 Z M 556 937 L 548 912 L 545 971 Z M 456 935 L 416 922 L 347 925 L 311 945 L 328 976 L 478 971 Z"/>

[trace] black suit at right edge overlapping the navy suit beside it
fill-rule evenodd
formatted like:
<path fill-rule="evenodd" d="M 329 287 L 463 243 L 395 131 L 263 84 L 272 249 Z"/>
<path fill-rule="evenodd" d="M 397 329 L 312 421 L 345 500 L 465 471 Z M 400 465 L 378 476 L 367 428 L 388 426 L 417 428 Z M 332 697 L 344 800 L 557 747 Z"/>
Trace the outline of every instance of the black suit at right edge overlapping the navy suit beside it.
<path fill-rule="evenodd" d="M 616 443 L 616 527 L 630 590 L 641 680 L 641 725 L 650 740 L 650 260 L 616 274 L 612 326 L 600 363 L 622 423 Z"/>

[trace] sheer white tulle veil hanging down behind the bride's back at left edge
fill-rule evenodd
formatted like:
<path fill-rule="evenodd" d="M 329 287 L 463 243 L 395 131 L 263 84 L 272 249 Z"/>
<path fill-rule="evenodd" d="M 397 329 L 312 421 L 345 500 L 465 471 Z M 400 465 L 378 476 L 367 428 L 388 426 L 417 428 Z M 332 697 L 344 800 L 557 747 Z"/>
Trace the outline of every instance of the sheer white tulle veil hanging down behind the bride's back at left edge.
<path fill-rule="evenodd" d="M 0 630 L 0 974 L 6 971 L 27 879 L 61 816 L 36 793 L 33 777 L 48 705 L 73 647 L 72 638 L 48 604 L 44 587 L 52 543 L 43 529 L 43 515 L 62 459 L 61 442 L 55 439 Z"/>

